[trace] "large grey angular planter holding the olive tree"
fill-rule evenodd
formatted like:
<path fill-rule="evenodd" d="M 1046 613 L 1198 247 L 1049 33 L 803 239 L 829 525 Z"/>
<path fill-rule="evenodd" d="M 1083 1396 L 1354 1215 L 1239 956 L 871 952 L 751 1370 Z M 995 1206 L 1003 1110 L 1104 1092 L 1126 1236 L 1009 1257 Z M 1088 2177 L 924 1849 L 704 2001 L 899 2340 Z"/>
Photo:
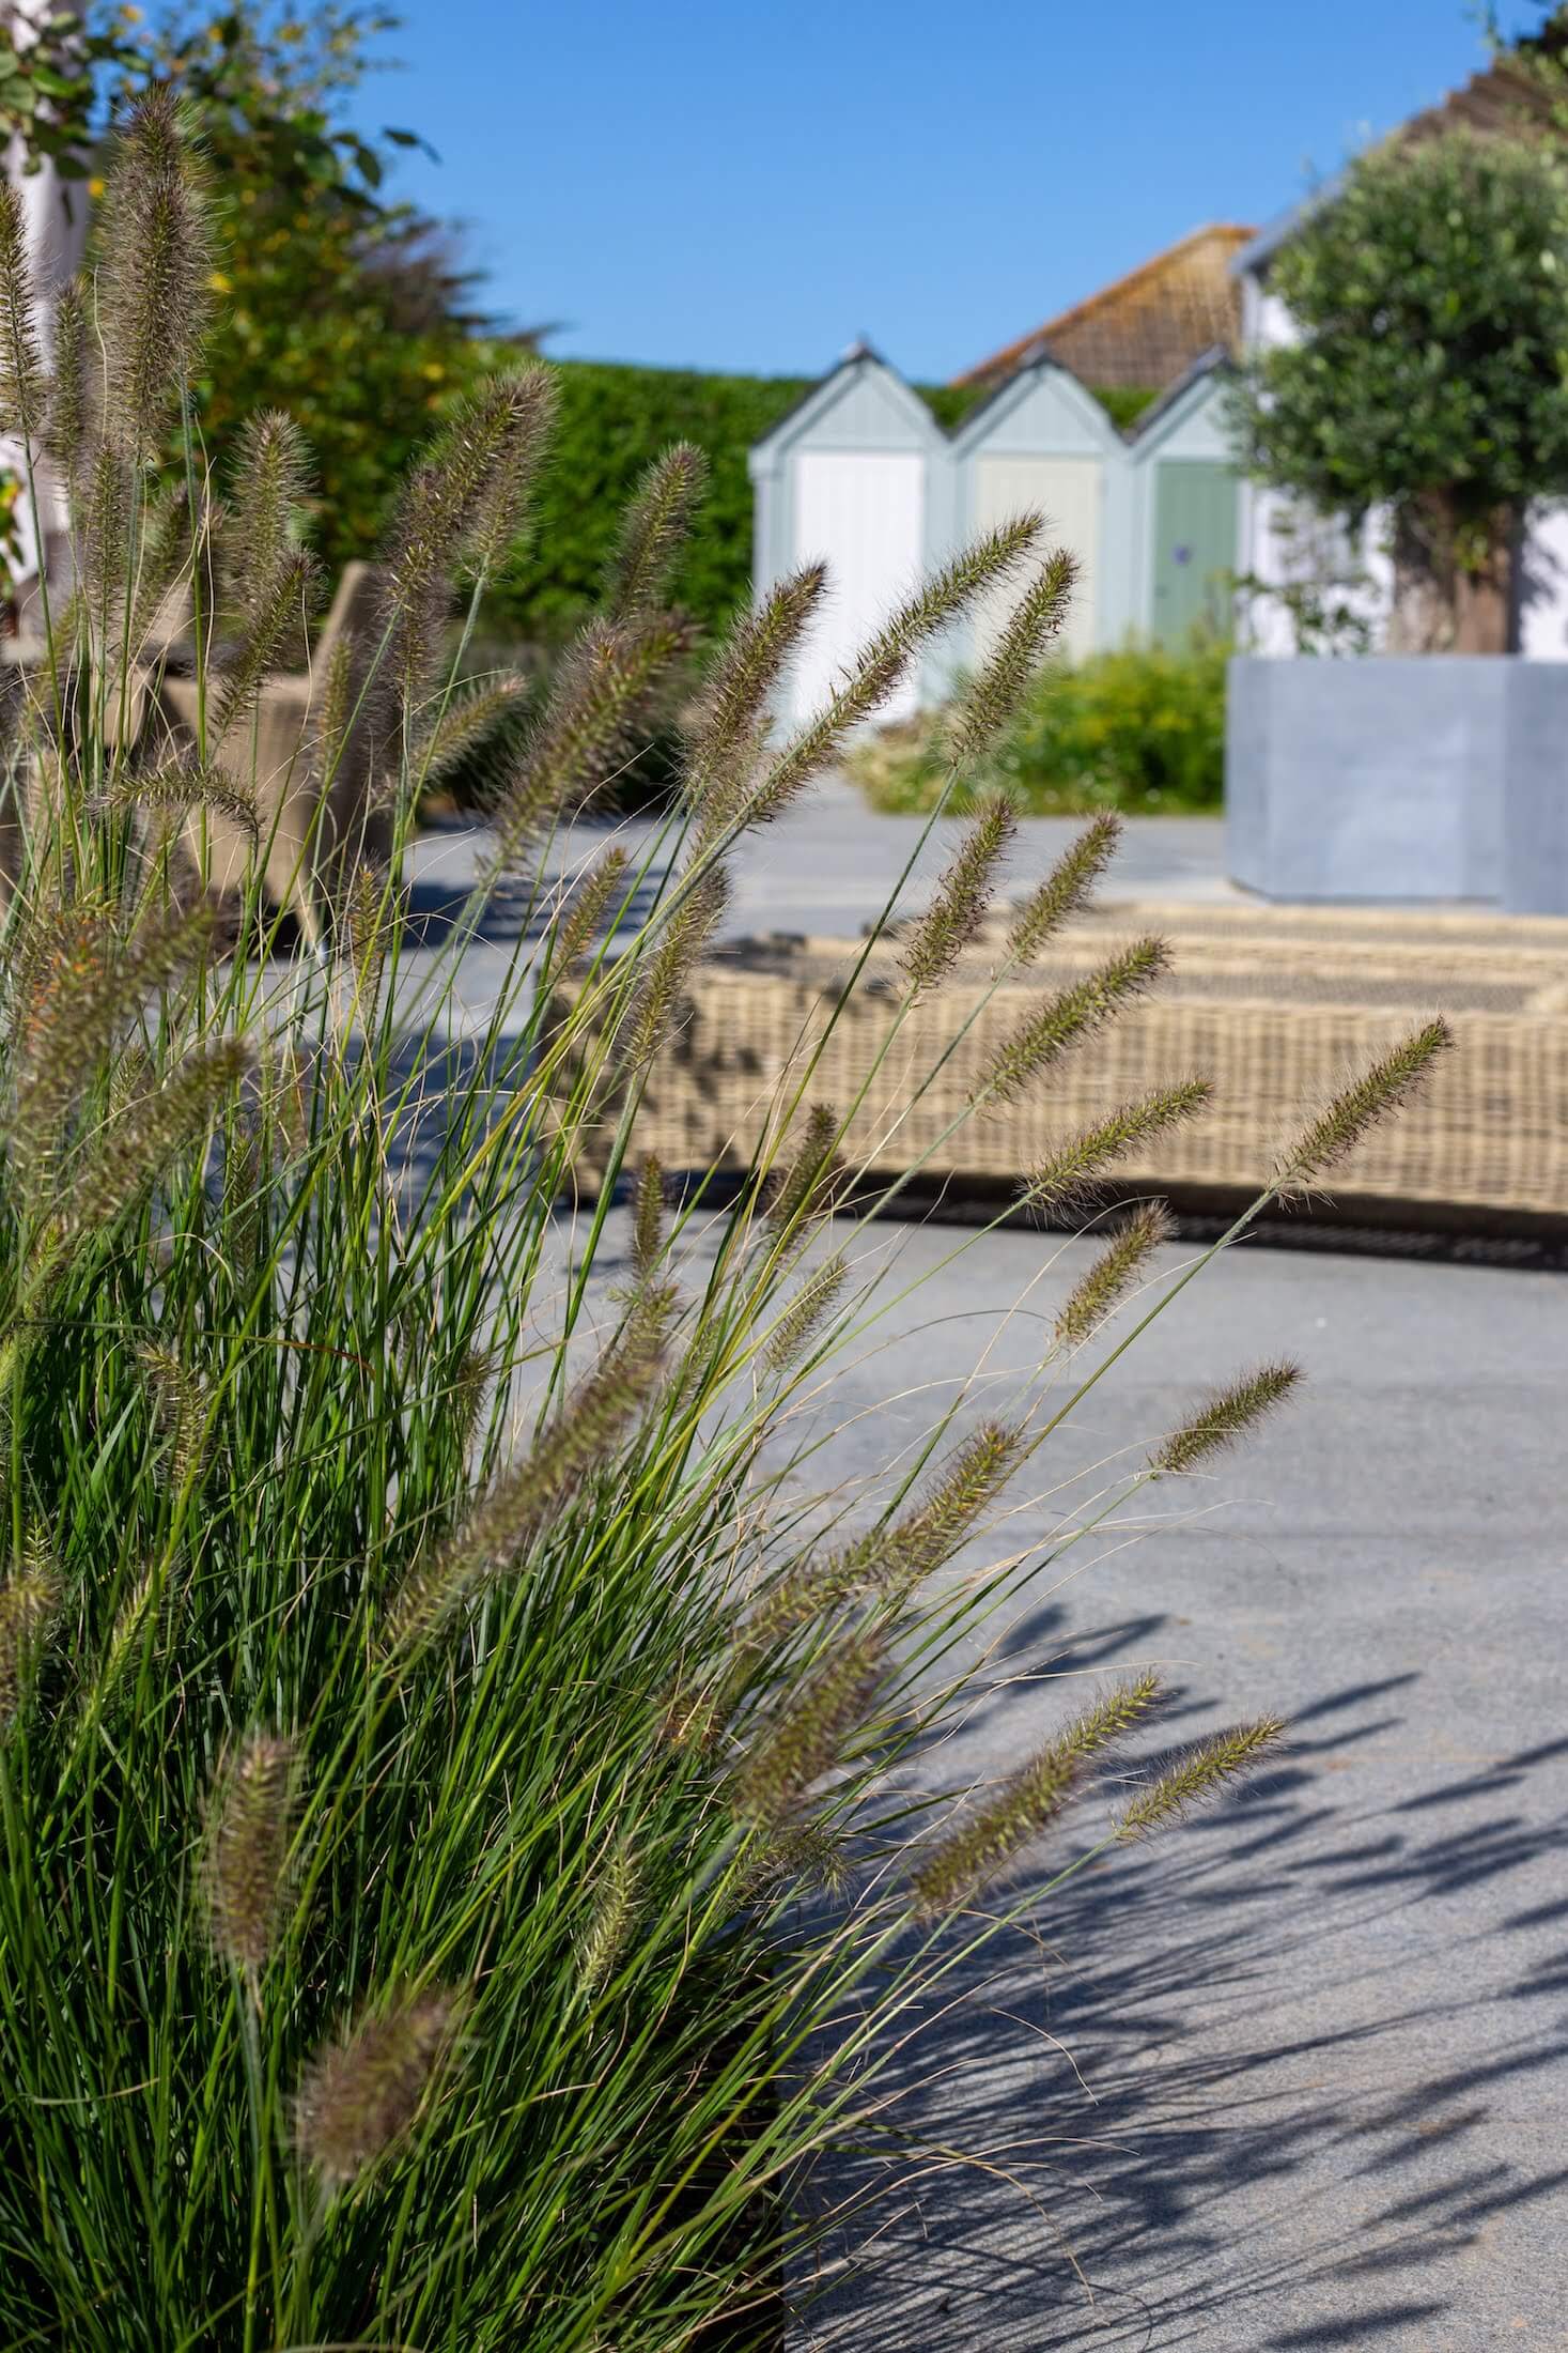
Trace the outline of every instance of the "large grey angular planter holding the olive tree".
<path fill-rule="evenodd" d="M 1239 654 L 1225 809 L 1232 880 L 1267 899 L 1568 913 L 1568 664 Z"/>

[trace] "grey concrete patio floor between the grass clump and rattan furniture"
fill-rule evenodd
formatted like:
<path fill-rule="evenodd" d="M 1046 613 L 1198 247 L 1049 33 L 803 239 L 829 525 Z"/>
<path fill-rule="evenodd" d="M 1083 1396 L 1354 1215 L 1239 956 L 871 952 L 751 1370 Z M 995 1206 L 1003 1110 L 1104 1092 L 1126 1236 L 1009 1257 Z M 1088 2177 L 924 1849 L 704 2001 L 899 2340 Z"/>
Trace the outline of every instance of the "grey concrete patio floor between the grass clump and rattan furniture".
<path fill-rule="evenodd" d="M 976 1409 L 1006 1398 L 1081 1264 L 957 1242 L 891 1245 L 929 1282 L 823 1407 L 823 1478 L 875 1475 L 987 1348 Z M 802 2353 L 1568 2344 L 1568 1285 L 1246 1247 L 1053 1442 L 1037 1522 L 1265 1351 L 1300 1402 L 1046 1577 L 940 1774 L 1009 1772 L 1079 1678 L 1143 1666 L 1171 1741 L 1276 1708 L 1284 1765 L 1072 1882 L 907 2047 L 907 2146 L 832 2179 L 882 2198 Z"/>

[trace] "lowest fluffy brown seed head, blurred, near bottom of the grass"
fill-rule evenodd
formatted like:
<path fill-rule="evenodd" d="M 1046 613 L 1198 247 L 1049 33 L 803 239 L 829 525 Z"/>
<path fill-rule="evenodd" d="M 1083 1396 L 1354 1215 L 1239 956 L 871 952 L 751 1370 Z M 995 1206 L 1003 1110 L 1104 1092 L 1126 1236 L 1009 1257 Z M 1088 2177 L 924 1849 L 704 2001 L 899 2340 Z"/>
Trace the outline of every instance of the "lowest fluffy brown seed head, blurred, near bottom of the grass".
<path fill-rule="evenodd" d="M 397 1995 L 306 2068 L 294 2139 L 329 2195 L 393 2155 L 449 2073 L 465 2005 L 456 1993 Z"/>

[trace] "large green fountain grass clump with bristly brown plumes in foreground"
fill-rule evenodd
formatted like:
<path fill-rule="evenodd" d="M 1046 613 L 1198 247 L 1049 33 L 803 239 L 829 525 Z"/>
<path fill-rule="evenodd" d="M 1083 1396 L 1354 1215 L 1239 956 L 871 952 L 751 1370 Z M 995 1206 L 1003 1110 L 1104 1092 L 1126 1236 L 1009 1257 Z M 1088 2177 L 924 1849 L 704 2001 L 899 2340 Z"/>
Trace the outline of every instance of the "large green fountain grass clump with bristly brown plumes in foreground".
<path fill-rule="evenodd" d="M 162 332 L 200 245 L 179 136 L 150 115 L 120 162 L 120 216 L 162 226 L 108 289 L 134 348 L 78 386 L 75 588 L 5 776 L 0 2341 L 670 2353 L 724 2322 L 766 2344 L 809 2228 L 785 2186 L 875 2097 L 891 2021 L 987 1932 L 945 1922 L 1027 1873 L 1088 1762 L 1157 1704 L 1110 1694 L 959 1845 L 907 1859 L 929 1800 L 898 1767 L 961 1708 L 964 1635 L 1027 1562 L 947 1569 L 1126 1346 L 1084 1369 L 1143 1261 L 1065 1306 L 1016 1417 L 933 1431 L 851 1529 L 806 1494 L 792 1431 L 875 1313 L 856 1221 L 816 1254 L 860 1174 L 856 1106 L 827 1113 L 792 1071 L 755 1191 L 710 1214 L 639 1167 L 637 1099 L 733 842 L 1039 525 L 919 591 L 776 744 L 771 694 L 820 593 L 788 584 L 712 656 L 663 835 L 562 866 L 564 821 L 686 659 L 661 595 L 701 468 L 675 452 L 430 944 L 400 873 L 451 711 L 447 602 L 461 584 L 473 621 L 550 431 L 536 372 L 482 388 L 411 475 L 376 631 L 299 755 L 327 920 L 292 941 L 263 889 L 280 779 L 256 755 L 223 772 L 256 816 L 223 904 L 200 786 L 209 732 L 233 746 L 230 713 L 266 692 L 277 584 L 308 598 L 282 513 L 303 452 L 259 428 L 226 515 L 188 438 L 181 539 L 155 419 L 99 391 L 190 414 L 188 322 Z M 38 471 L 28 414 L 45 391 L 56 416 L 59 388 L 16 271 L 0 292 L 26 360 L 2 424 Z M 101 292 L 73 296 L 92 348 Z M 136 616 L 169 591 L 193 612 L 195 741 L 139 746 L 125 713 L 162 656 Z M 1018 960 L 1107 847 L 1100 828 L 1027 901 Z M 954 939 L 987 887 L 969 852 Z M 465 955 L 501 904 L 522 920 L 470 1012 Z M 947 962 L 929 946 L 907 1005 Z M 1140 958 L 1011 1040 L 985 1099 L 1112 1019 L 1159 962 Z M 1415 1075 L 1345 1096 L 1281 1184 Z M 1077 1186 L 1197 1096 L 1131 1106 L 1037 1184 Z M 604 1099 L 611 1181 L 574 1212 Z M 1067 1393 L 1046 1409 L 1051 1372 Z M 1173 1417 L 1124 1492 L 1262 1402 L 1253 1381 Z M 1244 1762 L 1199 1758 L 1058 1871 Z"/>

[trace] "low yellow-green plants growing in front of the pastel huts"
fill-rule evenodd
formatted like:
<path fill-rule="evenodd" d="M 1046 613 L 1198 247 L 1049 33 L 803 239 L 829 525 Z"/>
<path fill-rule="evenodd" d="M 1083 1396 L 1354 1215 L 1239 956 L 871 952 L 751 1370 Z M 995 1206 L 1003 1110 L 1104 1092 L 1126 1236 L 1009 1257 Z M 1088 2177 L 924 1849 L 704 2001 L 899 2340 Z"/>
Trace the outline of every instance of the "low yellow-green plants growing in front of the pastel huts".
<path fill-rule="evenodd" d="M 1199 635 L 1182 647 L 1126 645 L 1084 661 L 1048 661 L 950 807 L 1004 791 L 1032 816 L 1218 809 L 1225 659 L 1220 640 Z M 849 774 L 877 809 L 931 809 L 952 760 L 952 727 L 954 715 L 943 711 L 884 727 L 851 751 Z"/>

